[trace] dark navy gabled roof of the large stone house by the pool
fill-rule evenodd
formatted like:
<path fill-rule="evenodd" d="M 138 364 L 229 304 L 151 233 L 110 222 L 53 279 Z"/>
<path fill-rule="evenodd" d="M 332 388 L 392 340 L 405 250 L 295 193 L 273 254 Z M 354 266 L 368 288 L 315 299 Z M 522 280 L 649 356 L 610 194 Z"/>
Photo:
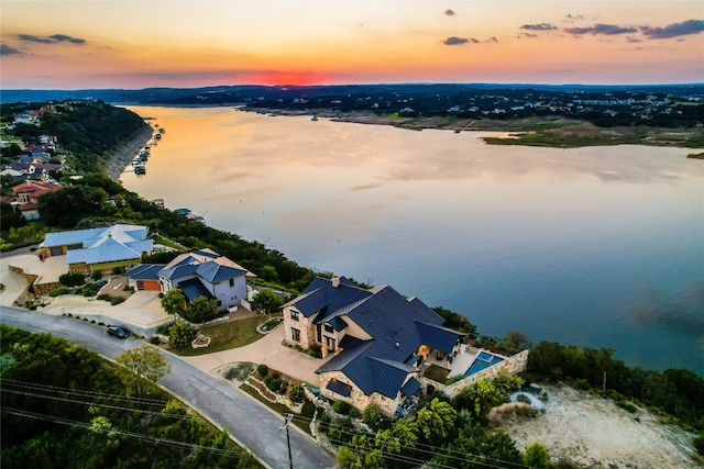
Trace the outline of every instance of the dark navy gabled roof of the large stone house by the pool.
<path fill-rule="evenodd" d="M 339 344 L 341 351 L 316 370 L 341 371 L 366 395 L 378 392 L 395 399 L 408 375 L 418 370 L 409 364 L 416 362 L 410 358 L 421 345 L 449 353 L 462 335 L 442 327 L 444 320 L 420 300 L 407 300 L 391 287 L 362 290 L 366 295 L 350 294 L 344 293 L 342 283 L 334 288 L 324 284 L 329 280 L 322 280 L 316 282 L 316 289 L 288 304 L 296 309 L 301 303 L 314 304 L 311 308 L 319 311 L 315 323 L 328 322 L 333 327 L 339 325 L 338 321 L 354 323 L 372 337 L 362 340 L 345 335 Z M 339 298 L 329 289 L 339 290 Z M 341 299 L 351 301 L 340 304 Z M 336 301 L 334 308 L 324 300 Z"/>

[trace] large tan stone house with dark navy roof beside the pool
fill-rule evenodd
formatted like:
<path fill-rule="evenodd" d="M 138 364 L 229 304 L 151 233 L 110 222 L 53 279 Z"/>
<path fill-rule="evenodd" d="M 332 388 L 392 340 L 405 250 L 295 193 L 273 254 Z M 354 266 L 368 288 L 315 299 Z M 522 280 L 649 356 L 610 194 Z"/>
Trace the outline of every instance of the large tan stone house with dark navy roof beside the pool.
<path fill-rule="evenodd" d="M 360 410 L 376 403 L 387 416 L 420 393 L 419 367 L 430 351 L 453 354 L 463 336 L 420 300 L 344 277 L 316 278 L 283 309 L 286 342 L 320 347 L 329 358 L 316 370 L 321 395 Z"/>

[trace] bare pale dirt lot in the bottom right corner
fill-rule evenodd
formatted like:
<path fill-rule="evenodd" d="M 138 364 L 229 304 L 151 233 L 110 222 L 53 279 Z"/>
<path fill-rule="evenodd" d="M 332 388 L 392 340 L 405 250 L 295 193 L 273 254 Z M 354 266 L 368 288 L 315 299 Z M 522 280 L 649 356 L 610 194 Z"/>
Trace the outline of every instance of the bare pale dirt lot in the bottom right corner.
<path fill-rule="evenodd" d="M 612 401 L 568 387 L 543 387 L 544 413 L 502 423 L 519 449 L 540 442 L 554 460 L 587 468 L 701 468 L 694 434 L 663 425 L 650 412 L 636 413 Z"/>

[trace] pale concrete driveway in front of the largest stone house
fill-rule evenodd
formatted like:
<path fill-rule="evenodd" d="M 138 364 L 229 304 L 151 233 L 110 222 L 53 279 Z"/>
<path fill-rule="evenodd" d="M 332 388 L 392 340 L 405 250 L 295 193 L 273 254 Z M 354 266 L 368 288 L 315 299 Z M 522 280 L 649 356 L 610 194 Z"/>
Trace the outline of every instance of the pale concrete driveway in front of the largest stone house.
<path fill-rule="evenodd" d="M 210 372 L 213 372 L 224 365 L 238 361 L 264 364 L 293 378 L 318 386 L 319 378 L 315 371 L 321 367 L 326 360 L 314 358 L 296 349 L 286 347 L 282 345 L 283 339 L 284 325 L 279 324 L 278 327 L 270 332 L 266 336 L 244 347 L 196 357 L 183 357 L 183 359 Z"/>

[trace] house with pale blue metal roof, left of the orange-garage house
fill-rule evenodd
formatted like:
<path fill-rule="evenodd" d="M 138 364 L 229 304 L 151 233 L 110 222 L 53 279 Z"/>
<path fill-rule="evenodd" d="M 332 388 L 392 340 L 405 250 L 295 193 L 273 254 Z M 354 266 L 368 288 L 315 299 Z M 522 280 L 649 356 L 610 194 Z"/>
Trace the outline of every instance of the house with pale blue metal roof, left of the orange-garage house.
<path fill-rule="evenodd" d="M 142 256 L 152 254 L 154 248 L 147 234 L 147 226 L 124 224 L 47 233 L 40 248 L 45 257 L 66 255 L 72 272 L 89 273 L 139 264 Z"/>

